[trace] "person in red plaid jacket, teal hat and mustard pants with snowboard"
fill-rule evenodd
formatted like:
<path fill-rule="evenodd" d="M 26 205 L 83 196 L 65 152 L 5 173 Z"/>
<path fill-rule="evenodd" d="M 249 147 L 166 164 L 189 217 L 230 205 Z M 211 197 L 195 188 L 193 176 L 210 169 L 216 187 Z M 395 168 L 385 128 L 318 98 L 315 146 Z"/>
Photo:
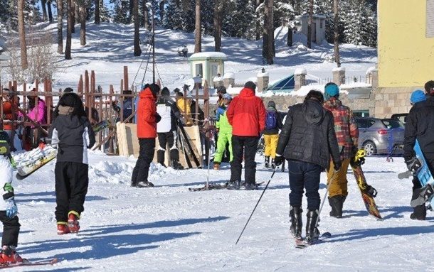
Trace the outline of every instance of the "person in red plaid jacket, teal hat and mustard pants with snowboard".
<path fill-rule="evenodd" d="M 334 172 L 333 160 L 327 170 L 327 183 L 329 183 L 329 205 L 332 207 L 331 217 L 341 218 L 342 208 L 348 195 L 348 181 L 346 171 L 351 158 L 357 152 L 359 141 L 359 129 L 354 120 L 353 111 L 339 100 L 339 87 L 333 82 L 324 87 L 324 108 L 332 111 L 334 117 L 334 132 L 336 133 L 339 152 L 341 154 L 342 167 L 337 173 Z M 333 180 L 332 180 L 333 177 Z"/>

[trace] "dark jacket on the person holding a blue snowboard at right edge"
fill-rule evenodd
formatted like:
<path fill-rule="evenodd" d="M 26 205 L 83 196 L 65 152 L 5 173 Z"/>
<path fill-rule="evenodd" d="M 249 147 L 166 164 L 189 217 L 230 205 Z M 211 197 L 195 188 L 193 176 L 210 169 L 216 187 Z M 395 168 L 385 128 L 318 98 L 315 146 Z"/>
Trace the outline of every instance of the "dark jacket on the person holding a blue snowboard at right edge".
<path fill-rule="evenodd" d="M 434 97 L 413 105 L 407 116 L 404 133 L 404 158 L 414 156 L 413 146 L 418 139 L 420 149 L 427 160 L 434 159 Z"/>

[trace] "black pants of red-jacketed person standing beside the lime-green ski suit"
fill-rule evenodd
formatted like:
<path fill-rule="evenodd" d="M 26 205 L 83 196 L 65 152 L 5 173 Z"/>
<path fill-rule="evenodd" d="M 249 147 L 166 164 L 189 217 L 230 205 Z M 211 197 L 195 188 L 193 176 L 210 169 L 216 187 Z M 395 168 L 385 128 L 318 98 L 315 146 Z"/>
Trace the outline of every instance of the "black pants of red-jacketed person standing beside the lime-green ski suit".
<path fill-rule="evenodd" d="M 245 168 L 245 183 L 256 183 L 256 148 L 258 147 L 256 136 L 232 136 L 233 161 L 231 163 L 231 182 L 241 181 L 241 163 Z"/>

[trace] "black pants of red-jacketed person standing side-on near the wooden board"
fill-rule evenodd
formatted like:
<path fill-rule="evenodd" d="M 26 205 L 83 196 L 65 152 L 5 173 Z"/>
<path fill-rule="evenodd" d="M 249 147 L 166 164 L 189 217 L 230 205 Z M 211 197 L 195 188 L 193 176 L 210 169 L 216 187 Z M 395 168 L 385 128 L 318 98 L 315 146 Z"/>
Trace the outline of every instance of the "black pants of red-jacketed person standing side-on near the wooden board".
<path fill-rule="evenodd" d="M 148 181 L 149 165 L 154 159 L 155 138 L 139 138 L 139 158 L 136 166 L 132 170 L 131 181 L 137 184 L 139 181 Z"/>

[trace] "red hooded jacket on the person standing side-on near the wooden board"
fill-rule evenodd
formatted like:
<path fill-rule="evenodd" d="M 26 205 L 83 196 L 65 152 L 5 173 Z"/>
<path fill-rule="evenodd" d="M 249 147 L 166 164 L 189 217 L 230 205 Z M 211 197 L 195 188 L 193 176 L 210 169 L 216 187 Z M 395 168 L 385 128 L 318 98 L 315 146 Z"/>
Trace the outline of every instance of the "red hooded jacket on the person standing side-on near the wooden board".
<path fill-rule="evenodd" d="M 151 92 L 146 88 L 139 94 L 140 99 L 137 103 L 137 138 L 156 138 L 157 137 L 157 101 Z"/>

